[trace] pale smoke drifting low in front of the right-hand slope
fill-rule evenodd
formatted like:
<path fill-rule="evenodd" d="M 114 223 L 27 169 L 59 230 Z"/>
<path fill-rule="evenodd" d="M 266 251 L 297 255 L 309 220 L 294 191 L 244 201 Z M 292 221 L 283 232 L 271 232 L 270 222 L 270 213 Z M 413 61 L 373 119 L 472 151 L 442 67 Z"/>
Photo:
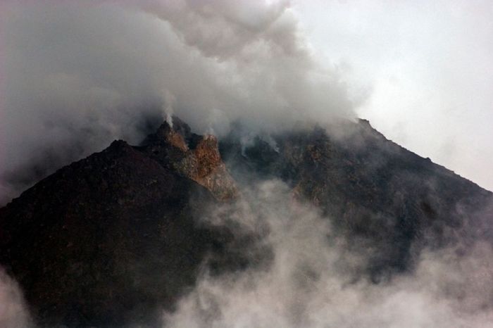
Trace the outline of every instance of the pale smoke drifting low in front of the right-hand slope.
<path fill-rule="evenodd" d="M 293 201 L 285 184 L 262 182 L 240 202 L 242 229 L 268 225 L 272 265 L 204 275 L 164 315 L 166 327 L 491 327 L 490 244 L 425 251 L 413 272 L 373 284 L 361 275 L 364 251 L 349 251 L 344 236 Z"/>

